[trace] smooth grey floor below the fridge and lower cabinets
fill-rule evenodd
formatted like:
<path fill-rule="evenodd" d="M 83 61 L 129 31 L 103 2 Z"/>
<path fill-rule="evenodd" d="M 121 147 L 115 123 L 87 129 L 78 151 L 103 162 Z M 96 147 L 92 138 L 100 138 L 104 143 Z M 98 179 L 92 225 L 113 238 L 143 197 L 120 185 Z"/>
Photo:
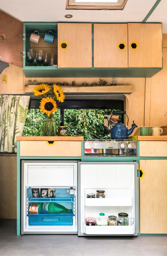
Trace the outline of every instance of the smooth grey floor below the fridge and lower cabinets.
<path fill-rule="evenodd" d="M 3 256 L 166 256 L 167 236 L 78 237 L 16 236 L 15 220 L 0 220 Z"/>

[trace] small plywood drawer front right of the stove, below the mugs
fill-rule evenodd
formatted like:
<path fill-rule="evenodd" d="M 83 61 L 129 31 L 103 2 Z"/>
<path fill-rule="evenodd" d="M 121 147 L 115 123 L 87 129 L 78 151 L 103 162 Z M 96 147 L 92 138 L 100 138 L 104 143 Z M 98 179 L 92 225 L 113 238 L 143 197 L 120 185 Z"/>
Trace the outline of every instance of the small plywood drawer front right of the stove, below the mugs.
<path fill-rule="evenodd" d="M 167 157 L 167 141 L 140 141 L 140 157 Z"/>

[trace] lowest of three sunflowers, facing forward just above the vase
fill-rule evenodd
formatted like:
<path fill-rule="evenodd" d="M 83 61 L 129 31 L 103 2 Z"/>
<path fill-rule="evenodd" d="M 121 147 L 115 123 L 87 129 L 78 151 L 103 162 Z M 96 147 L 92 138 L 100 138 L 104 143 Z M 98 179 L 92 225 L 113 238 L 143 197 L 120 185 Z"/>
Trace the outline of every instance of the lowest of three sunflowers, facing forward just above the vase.
<path fill-rule="evenodd" d="M 44 114 L 46 113 L 48 116 L 52 114 L 53 112 L 57 111 L 57 105 L 54 99 L 52 97 L 46 97 L 41 99 L 40 101 L 40 111 Z"/>

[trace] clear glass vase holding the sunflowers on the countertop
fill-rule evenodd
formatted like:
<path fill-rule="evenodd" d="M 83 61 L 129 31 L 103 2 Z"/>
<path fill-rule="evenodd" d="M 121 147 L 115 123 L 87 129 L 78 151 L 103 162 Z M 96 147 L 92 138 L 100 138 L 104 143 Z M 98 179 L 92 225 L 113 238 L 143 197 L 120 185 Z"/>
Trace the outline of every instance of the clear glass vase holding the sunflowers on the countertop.
<path fill-rule="evenodd" d="M 53 114 L 46 116 L 44 121 L 44 136 L 56 136 L 56 119 Z"/>

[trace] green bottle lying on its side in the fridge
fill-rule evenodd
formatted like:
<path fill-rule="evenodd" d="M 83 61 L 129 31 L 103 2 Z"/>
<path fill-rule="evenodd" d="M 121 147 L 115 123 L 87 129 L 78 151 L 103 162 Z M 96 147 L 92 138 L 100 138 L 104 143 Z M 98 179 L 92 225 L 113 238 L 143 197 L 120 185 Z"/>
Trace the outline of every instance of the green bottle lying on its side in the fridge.
<path fill-rule="evenodd" d="M 58 213 L 70 213 L 71 210 L 65 208 L 65 206 L 59 203 L 40 203 L 39 210 L 58 214 Z"/>

